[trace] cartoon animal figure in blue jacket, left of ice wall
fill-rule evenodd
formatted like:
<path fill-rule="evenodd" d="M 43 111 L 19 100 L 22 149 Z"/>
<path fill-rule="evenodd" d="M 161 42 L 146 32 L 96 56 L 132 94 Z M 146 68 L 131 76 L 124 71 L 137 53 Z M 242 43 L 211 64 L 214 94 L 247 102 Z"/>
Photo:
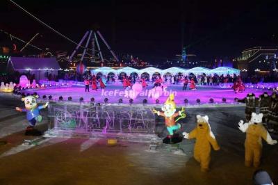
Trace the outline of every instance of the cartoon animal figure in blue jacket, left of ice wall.
<path fill-rule="evenodd" d="M 26 112 L 26 118 L 29 122 L 29 126 L 26 128 L 25 135 L 31 135 L 31 136 L 40 136 L 40 131 L 37 131 L 34 129 L 35 123 L 42 121 L 42 115 L 40 115 L 40 110 L 42 108 L 47 108 L 49 102 L 47 102 L 44 105 L 38 106 L 37 103 L 38 96 L 28 96 L 23 97 L 22 101 L 24 101 L 25 108 L 19 108 L 16 107 L 15 109 L 20 112 Z"/>

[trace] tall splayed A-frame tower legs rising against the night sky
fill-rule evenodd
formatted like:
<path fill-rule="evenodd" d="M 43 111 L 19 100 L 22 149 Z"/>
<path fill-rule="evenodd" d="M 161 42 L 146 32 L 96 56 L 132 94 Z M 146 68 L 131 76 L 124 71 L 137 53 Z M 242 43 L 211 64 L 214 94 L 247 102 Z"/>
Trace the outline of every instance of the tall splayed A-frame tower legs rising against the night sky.
<path fill-rule="evenodd" d="M 74 51 L 72 52 L 72 55 L 69 58 L 69 62 L 72 62 L 72 58 L 76 54 L 76 52 L 79 50 L 79 47 L 81 47 L 82 43 L 84 40 L 87 38 L 87 42 L 85 43 L 85 48 L 83 50 L 83 54 L 81 56 L 80 61 L 83 61 L 85 55 L 87 54 L 91 58 L 92 63 L 97 63 L 96 59 L 100 59 L 101 63 L 104 63 L 104 57 L 101 53 L 101 49 L 99 46 L 99 40 L 97 39 L 97 35 L 99 35 L 99 38 L 101 38 L 102 42 L 104 42 L 104 45 L 106 45 L 107 49 L 111 52 L 113 58 L 115 59 L 116 62 L 119 62 L 119 59 L 115 55 L 114 51 L 111 49 L 111 47 L 108 45 L 106 40 L 104 39 L 103 35 L 99 31 L 86 31 L 85 35 L 83 35 L 83 38 L 80 40 L 79 44 L 76 46 Z M 89 49 L 89 43 L 91 41 L 91 49 Z M 97 45 L 97 49 L 95 49 L 95 45 Z M 90 53 L 88 51 L 91 51 Z M 96 57 L 96 54 L 99 54 L 100 58 Z"/>

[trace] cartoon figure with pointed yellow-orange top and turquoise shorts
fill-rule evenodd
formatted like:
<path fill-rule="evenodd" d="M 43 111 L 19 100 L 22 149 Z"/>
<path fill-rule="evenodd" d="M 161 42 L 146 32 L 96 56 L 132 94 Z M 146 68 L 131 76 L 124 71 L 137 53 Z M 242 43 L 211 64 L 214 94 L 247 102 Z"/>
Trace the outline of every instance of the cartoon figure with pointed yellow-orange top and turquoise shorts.
<path fill-rule="evenodd" d="M 171 94 L 167 98 L 166 102 L 161 107 L 161 110 L 164 112 L 156 111 L 155 109 L 153 111 L 154 111 L 154 113 L 157 113 L 157 115 L 161 115 L 161 116 L 165 117 L 165 126 L 167 128 L 167 131 L 169 132 L 169 135 L 167 136 L 166 140 L 170 140 L 170 143 L 172 143 L 174 131 L 181 128 L 181 124 L 179 124 L 179 123 L 176 124 L 176 122 L 180 118 L 186 118 L 186 114 L 183 113 L 184 108 L 181 108 L 181 111 L 176 113 L 176 103 L 174 102 L 174 94 Z M 180 115 L 180 117 L 177 118 L 177 120 L 174 120 L 179 115 Z M 163 140 L 163 143 L 167 143 L 166 140 Z M 181 140 L 182 140 L 182 137 L 181 137 Z M 178 143 L 181 140 L 174 142 L 174 143 Z"/>

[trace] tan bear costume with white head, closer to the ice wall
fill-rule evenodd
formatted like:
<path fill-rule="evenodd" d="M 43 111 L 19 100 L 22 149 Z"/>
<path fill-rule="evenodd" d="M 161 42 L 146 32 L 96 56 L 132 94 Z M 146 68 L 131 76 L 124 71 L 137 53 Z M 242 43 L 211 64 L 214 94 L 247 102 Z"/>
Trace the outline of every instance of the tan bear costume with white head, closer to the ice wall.
<path fill-rule="evenodd" d="M 211 161 L 211 145 L 213 150 L 220 150 L 215 139 L 211 126 L 208 123 L 208 116 L 197 115 L 197 127 L 190 133 L 183 132 L 184 138 L 196 138 L 194 147 L 194 158 L 201 163 L 202 172 L 208 171 L 209 162 Z"/>

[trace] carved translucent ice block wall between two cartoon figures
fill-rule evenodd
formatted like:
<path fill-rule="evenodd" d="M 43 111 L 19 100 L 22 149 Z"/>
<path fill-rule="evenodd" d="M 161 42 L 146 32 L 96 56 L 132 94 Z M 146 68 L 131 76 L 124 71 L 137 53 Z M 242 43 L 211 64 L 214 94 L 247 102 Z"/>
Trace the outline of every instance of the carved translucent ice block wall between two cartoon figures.
<path fill-rule="evenodd" d="M 49 104 L 46 137 L 116 138 L 159 143 L 151 106 L 53 102 Z"/>

